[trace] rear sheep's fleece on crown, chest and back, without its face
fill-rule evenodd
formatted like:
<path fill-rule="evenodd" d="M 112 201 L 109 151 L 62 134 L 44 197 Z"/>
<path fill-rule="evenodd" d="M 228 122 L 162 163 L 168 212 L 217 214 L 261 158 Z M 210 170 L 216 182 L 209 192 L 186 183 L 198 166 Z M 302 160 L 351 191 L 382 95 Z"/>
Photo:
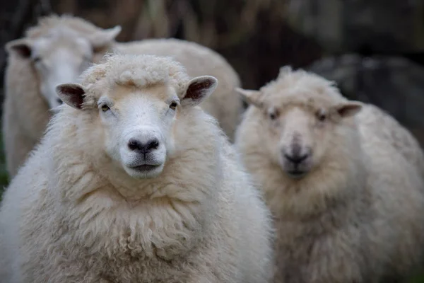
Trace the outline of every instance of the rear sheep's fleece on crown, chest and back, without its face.
<path fill-rule="evenodd" d="M 102 37 L 95 35 L 102 29 L 82 18 L 66 15 L 40 18 L 37 25 L 27 30 L 25 39 L 44 38 L 52 33 L 52 30 L 59 30 L 59 35 L 63 35 L 65 30 L 70 31 L 71 34 L 67 38 L 70 42 L 81 37 L 98 44 L 92 58 L 95 63 L 102 61 L 105 52 L 116 49 L 135 54 L 170 55 L 182 62 L 191 76 L 216 76 L 220 81 L 218 89 L 201 107 L 218 119 L 220 126 L 232 140 L 242 110 L 242 102 L 234 93 L 234 88 L 240 86 L 240 79 L 225 59 L 213 50 L 193 42 L 171 39 L 117 43 L 111 36 L 110 40 L 99 42 Z M 40 93 L 40 78 L 30 59 L 11 52 L 8 56 L 5 84 L 3 139 L 7 170 L 10 177 L 13 177 L 44 134 L 51 112 Z"/>

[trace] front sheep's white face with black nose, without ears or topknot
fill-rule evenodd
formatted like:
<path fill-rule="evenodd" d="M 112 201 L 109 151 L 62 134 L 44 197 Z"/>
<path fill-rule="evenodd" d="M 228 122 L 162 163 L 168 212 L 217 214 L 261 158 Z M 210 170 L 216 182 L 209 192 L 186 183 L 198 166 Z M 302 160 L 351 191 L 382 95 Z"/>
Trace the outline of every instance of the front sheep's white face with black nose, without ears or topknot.
<path fill-rule="evenodd" d="M 100 97 L 107 154 L 135 178 L 158 176 L 172 151 L 178 105 L 175 91 L 165 85 L 136 91 L 117 87 L 113 96 Z"/>

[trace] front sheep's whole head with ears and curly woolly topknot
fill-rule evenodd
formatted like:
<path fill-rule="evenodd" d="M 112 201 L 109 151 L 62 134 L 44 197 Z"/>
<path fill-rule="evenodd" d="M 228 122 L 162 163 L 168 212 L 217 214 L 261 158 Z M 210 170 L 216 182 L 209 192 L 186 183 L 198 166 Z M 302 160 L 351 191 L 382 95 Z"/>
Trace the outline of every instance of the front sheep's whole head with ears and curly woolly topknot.
<path fill-rule="evenodd" d="M 106 154 L 134 178 L 162 173 L 175 146 L 179 112 L 201 103 L 218 83 L 212 76 L 189 79 L 170 58 L 149 55 L 114 54 L 83 76 L 84 85 L 63 83 L 57 93 L 67 105 L 90 113 Z"/>

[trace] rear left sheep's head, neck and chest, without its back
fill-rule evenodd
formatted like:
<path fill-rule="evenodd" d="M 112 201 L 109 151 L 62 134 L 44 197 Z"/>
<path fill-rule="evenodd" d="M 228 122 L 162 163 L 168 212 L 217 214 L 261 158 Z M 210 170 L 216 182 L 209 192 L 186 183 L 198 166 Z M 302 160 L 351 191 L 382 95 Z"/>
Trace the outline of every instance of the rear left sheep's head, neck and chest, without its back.
<path fill-rule="evenodd" d="M 119 25 L 103 30 L 81 18 L 49 16 L 6 44 L 2 127 L 10 178 L 44 134 L 49 109 L 61 103 L 57 84 L 78 81 L 90 61 L 112 48 L 120 30 Z"/>

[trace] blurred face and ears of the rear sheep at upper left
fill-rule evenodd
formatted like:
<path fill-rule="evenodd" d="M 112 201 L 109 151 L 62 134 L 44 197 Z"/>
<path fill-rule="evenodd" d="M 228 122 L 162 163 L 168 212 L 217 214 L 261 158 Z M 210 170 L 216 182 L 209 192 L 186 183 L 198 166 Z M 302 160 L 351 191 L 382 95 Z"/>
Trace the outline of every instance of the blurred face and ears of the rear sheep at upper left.
<path fill-rule="evenodd" d="M 111 42 L 119 31 L 120 28 L 114 28 L 102 30 L 92 37 L 83 37 L 73 30 L 59 27 L 43 37 L 8 42 L 6 50 L 33 65 L 40 81 L 40 93 L 49 108 L 54 109 L 62 103 L 56 86 L 78 81 L 80 74 L 90 66 L 93 51 Z"/>

